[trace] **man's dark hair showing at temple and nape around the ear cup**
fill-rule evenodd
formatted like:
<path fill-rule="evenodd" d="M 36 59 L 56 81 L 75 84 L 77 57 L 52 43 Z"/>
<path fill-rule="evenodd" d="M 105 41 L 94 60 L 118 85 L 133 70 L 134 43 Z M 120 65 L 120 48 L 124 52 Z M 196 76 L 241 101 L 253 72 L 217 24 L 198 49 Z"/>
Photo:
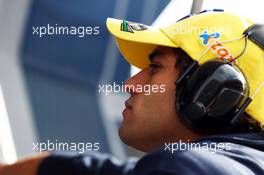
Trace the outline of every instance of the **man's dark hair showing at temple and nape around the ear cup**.
<path fill-rule="evenodd" d="M 184 73 L 193 62 L 193 59 L 182 49 L 173 48 L 174 52 L 177 54 L 177 60 L 175 67 L 180 69 L 180 75 Z M 223 128 L 224 133 L 249 133 L 249 132 L 263 132 L 264 128 L 253 119 L 250 115 L 244 112 L 240 121 L 231 126 L 230 128 Z"/>

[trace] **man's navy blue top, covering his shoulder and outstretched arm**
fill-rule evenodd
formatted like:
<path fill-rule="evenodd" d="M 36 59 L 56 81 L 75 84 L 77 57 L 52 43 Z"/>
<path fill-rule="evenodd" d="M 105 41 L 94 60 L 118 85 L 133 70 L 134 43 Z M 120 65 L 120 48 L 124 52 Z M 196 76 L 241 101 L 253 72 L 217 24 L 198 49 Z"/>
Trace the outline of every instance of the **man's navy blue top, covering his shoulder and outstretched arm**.
<path fill-rule="evenodd" d="M 263 133 L 211 136 L 195 143 L 214 146 L 160 148 L 126 162 L 99 153 L 53 154 L 44 159 L 38 175 L 264 175 Z"/>

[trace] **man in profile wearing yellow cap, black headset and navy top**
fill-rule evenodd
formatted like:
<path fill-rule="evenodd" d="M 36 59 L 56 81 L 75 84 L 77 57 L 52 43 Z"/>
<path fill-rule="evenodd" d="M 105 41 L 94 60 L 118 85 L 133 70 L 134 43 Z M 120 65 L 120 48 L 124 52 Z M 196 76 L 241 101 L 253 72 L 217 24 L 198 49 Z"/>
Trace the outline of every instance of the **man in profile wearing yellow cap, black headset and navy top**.
<path fill-rule="evenodd" d="M 179 26 L 201 30 L 179 34 Z M 107 27 L 141 69 L 125 83 L 130 98 L 119 135 L 147 154 L 122 163 L 94 153 L 47 153 L 3 165 L 1 175 L 264 174 L 262 25 L 206 11 L 165 28 L 116 19 Z M 165 91 L 146 95 L 133 88 L 139 85 Z M 183 142 L 195 146 L 176 149 Z"/>

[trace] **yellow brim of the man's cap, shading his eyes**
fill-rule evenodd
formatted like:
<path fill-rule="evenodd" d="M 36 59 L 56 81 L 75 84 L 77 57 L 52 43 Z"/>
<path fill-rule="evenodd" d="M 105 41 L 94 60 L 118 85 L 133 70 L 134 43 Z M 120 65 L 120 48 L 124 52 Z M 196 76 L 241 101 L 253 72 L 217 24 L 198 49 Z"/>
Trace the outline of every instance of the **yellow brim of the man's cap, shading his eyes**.
<path fill-rule="evenodd" d="M 137 23 L 107 18 L 106 26 L 115 36 L 118 48 L 132 65 L 144 69 L 149 64 L 149 54 L 157 46 L 177 47 L 160 29 L 151 26 L 142 28 Z"/>

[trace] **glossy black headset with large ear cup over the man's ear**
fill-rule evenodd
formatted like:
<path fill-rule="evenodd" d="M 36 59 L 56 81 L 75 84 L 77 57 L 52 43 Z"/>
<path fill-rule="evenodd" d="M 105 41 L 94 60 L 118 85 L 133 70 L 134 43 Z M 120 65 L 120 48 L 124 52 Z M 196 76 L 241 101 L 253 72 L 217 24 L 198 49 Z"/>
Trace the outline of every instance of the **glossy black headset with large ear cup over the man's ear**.
<path fill-rule="evenodd" d="M 243 55 L 248 39 L 264 48 L 264 25 L 254 24 L 243 35 L 245 47 L 232 61 L 215 58 L 202 65 L 192 61 L 175 82 L 176 111 L 198 133 L 218 133 L 234 126 L 252 101 L 247 78 L 233 61 Z"/>

